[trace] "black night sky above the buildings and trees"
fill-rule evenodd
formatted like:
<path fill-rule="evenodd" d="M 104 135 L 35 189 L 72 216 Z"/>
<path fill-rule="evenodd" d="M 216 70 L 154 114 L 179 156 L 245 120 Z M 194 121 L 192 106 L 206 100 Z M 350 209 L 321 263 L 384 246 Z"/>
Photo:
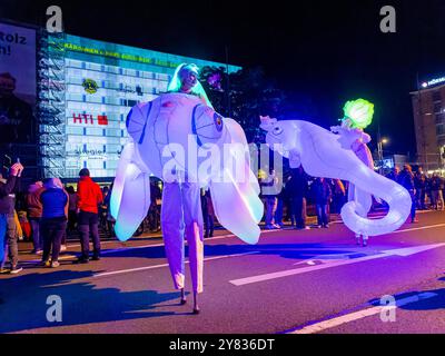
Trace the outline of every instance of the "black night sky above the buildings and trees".
<path fill-rule="evenodd" d="M 259 3 L 259 4 L 258 4 Z M 151 50 L 260 66 L 290 92 L 307 119 L 325 127 L 345 101 L 366 98 L 369 134 L 388 152 L 415 151 L 409 91 L 445 75 L 445 1 L 21 1 L 2 0 L 0 17 L 43 26 L 59 4 L 68 33 Z M 379 10 L 394 6 L 397 32 L 382 33 Z"/>

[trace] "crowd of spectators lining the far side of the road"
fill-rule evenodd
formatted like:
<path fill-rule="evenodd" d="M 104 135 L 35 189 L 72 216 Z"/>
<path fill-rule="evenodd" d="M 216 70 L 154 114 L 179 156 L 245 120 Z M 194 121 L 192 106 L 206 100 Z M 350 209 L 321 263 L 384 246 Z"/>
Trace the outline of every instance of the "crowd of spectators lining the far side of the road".
<path fill-rule="evenodd" d="M 115 237 L 115 219 L 110 214 L 111 186 L 99 187 L 88 169 L 79 172 L 77 189 L 63 186 L 58 178 L 32 182 L 20 192 L 23 167 L 16 164 L 8 178 L 0 176 L 0 273 L 18 274 L 18 245 L 20 238 L 32 241 L 32 254 L 41 255 L 42 267 L 59 266 L 59 255 L 67 249 L 67 236 L 79 238 L 81 249 L 76 263 L 87 264 L 100 259 L 100 234 Z M 409 165 L 395 167 L 387 178 L 404 186 L 412 196 L 412 222 L 416 210 L 444 210 L 444 179 L 437 174 L 426 175 L 422 167 L 414 172 Z M 348 182 L 339 179 L 313 178 L 299 167 L 290 169 L 279 181 L 274 169 L 259 175 L 260 197 L 265 205 L 265 228 L 279 229 L 285 221 L 296 229 L 309 229 L 308 210 L 316 215 L 316 228 L 328 228 L 329 216 L 339 214 L 347 201 Z M 146 228 L 160 229 L 161 182 L 151 181 L 151 205 L 147 218 L 136 235 Z M 201 190 L 205 237 L 212 237 L 215 211 L 209 190 Z M 100 234 L 99 234 L 100 233 Z M 90 238 L 93 250 L 90 256 Z M 9 267 L 7 268 L 7 260 Z"/>

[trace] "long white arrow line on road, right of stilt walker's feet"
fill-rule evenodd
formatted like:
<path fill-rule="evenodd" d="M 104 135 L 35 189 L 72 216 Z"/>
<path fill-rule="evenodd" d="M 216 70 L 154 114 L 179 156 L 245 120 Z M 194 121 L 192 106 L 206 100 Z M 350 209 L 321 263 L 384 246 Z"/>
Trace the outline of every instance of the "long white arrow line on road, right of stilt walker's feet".
<path fill-rule="evenodd" d="M 424 245 L 424 246 L 414 246 L 414 247 L 407 247 L 407 248 L 398 248 L 398 249 L 394 249 L 394 250 L 385 250 L 385 251 L 380 251 L 379 254 L 365 256 L 365 257 L 358 257 L 358 258 L 346 259 L 346 260 L 334 260 L 332 263 L 328 261 L 326 264 L 320 264 L 320 265 L 315 265 L 315 266 L 309 266 L 309 267 L 286 269 L 286 270 L 280 270 L 280 271 L 276 271 L 276 273 L 270 273 L 270 274 L 233 279 L 233 280 L 229 280 L 229 283 L 231 283 L 235 286 L 244 286 L 244 285 L 253 284 L 253 283 L 265 281 L 265 280 L 283 278 L 283 277 L 288 277 L 288 276 L 295 276 L 295 275 L 301 275 L 301 274 L 322 270 L 322 269 L 326 269 L 326 268 L 346 266 L 346 265 L 363 263 L 363 261 L 389 257 L 389 256 L 406 257 L 406 256 L 411 256 L 414 254 L 423 253 L 428 249 L 443 247 L 443 246 L 445 246 L 445 244 Z"/>

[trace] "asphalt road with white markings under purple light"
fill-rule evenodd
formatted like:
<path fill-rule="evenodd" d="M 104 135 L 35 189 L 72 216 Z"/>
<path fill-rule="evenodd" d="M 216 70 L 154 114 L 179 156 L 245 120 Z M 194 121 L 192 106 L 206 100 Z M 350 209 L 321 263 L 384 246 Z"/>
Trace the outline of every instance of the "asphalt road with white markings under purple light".
<path fill-rule="evenodd" d="M 23 273 L 0 276 L 0 332 L 445 333 L 445 212 L 418 219 L 368 247 L 343 224 L 265 231 L 256 246 L 219 231 L 206 239 L 200 315 L 191 295 L 179 305 L 160 238 L 107 241 L 103 258 L 88 265 L 72 264 L 71 243 L 57 269 L 23 253 Z M 53 295 L 60 323 L 47 319 Z"/>

